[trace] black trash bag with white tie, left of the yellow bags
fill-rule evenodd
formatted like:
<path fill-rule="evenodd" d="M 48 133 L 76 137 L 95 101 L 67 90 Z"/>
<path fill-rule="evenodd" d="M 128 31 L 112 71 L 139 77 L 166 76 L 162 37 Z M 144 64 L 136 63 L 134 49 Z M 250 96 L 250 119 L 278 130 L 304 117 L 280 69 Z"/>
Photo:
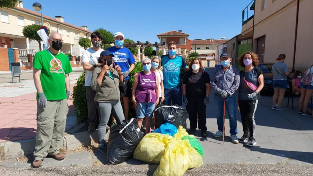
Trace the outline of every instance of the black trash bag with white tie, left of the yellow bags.
<path fill-rule="evenodd" d="M 106 163 L 119 164 L 131 158 L 142 137 L 143 133 L 135 118 L 124 120 L 121 125 L 114 125 L 109 136 Z"/>

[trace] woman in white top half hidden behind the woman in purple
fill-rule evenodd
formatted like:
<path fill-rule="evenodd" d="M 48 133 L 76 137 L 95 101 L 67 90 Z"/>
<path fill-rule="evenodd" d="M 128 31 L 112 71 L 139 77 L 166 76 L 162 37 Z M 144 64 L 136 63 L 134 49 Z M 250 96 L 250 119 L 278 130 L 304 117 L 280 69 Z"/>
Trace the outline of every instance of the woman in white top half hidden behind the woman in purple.
<path fill-rule="evenodd" d="M 161 68 L 161 58 L 159 56 L 154 56 L 151 59 L 152 67 L 151 72 L 154 72 L 159 80 L 159 104 L 163 103 L 164 97 L 164 86 L 163 86 L 163 72 L 160 70 Z"/>

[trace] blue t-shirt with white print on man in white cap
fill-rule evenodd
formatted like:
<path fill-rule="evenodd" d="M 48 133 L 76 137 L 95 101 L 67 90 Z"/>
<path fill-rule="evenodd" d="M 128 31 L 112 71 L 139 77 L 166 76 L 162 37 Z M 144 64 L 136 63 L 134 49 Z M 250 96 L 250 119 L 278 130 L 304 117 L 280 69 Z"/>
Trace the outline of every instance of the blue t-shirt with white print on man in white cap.
<path fill-rule="evenodd" d="M 121 67 L 122 72 L 127 71 L 129 69 L 129 65 L 136 62 L 133 54 L 128 48 L 116 48 L 114 46 L 108 48 L 107 50 L 114 54 L 113 61 L 116 65 Z M 114 64 L 113 67 L 115 67 Z M 124 79 L 129 79 L 129 76 Z"/>

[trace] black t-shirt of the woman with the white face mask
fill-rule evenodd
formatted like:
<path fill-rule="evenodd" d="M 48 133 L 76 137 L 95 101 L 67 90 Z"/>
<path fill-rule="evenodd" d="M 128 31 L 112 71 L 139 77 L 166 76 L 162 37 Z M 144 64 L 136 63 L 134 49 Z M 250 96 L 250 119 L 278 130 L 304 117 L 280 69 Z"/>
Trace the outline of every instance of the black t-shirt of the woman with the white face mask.
<path fill-rule="evenodd" d="M 203 70 L 198 73 L 192 73 L 192 71 L 186 72 L 182 83 L 187 84 L 186 86 L 186 97 L 187 98 L 204 98 L 207 87 L 206 83 L 210 83 L 210 76 Z"/>

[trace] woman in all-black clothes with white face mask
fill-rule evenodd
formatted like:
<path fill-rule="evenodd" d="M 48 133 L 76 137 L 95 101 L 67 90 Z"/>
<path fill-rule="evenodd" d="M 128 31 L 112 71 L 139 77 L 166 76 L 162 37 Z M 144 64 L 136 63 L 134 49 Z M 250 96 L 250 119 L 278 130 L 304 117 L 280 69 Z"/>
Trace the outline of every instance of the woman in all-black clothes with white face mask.
<path fill-rule="evenodd" d="M 186 72 L 182 80 L 183 102 L 186 104 L 190 120 L 189 134 L 193 134 L 197 128 L 201 130 L 201 136 L 207 137 L 207 116 L 206 105 L 209 103 L 210 76 L 203 71 L 201 61 L 193 59 L 190 63 L 190 70 Z M 198 114 L 198 115 L 197 115 Z"/>

